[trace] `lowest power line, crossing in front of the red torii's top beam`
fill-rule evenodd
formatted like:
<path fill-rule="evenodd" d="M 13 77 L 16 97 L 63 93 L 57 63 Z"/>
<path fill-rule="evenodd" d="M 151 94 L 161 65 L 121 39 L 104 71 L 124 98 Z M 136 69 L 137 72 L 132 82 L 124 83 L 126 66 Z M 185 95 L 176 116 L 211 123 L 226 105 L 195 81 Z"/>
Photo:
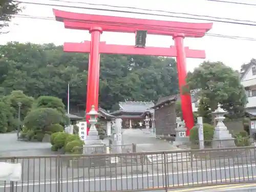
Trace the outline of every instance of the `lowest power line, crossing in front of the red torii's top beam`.
<path fill-rule="evenodd" d="M 32 18 L 32 19 L 45 19 L 45 20 L 55 20 L 55 18 L 53 17 L 37 17 L 37 16 L 31 16 L 31 15 L 22 15 L 22 14 L 17 14 L 16 17 L 20 17 L 20 18 Z M 70 20 L 70 21 L 74 21 L 77 23 L 86 23 L 86 24 L 90 24 L 90 22 L 86 22 L 83 20 Z M 99 23 L 99 22 L 94 22 L 95 23 Z M 133 24 L 118 24 L 118 23 L 113 23 L 113 22 L 104 22 L 104 24 L 109 25 L 109 26 L 125 26 L 127 28 L 133 28 L 134 25 Z M 164 27 L 164 26 L 163 26 Z M 152 29 L 152 30 L 157 30 L 156 28 L 153 27 L 147 27 L 148 29 Z M 175 28 L 175 27 L 174 27 Z M 183 29 L 190 29 L 190 28 L 183 28 Z M 188 30 L 180 30 L 177 29 L 173 29 L 173 30 L 162 30 L 162 31 L 168 31 L 168 32 L 181 32 L 181 33 L 188 33 L 188 34 L 198 34 L 198 35 L 202 35 L 203 33 L 199 33 L 199 32 L 193 32 L 188 31 Z M 214 37 L 223 37 L 223 38 L 231 38 L 231 39 L 242 39 L 242 40 L 252 40 L 255 41 L 255 38 L 251 38 L 251 37 L 241 37 L 241 36 L 228 36 L 228 35 L 221 35 L 221 34 L 211 34 L 211 33 L 206 33 L 205 35 L 207 36 L 214 36 Z"/>

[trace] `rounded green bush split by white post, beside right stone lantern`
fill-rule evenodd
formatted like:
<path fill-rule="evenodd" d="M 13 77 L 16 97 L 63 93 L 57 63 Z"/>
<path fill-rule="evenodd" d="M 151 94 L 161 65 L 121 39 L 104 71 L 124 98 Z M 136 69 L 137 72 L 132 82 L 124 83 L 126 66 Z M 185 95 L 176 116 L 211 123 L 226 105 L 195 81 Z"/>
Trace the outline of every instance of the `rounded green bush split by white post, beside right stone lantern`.
<path fill-rule="evenodd" d="M 212 140 L 212 138 L 214 137 L 214 126 L 208 124 L 208 123 L 204 123 L 203 124 L 203 132 L 204 132 L 204 140 L 205 141 L 209 141 Z M 190 130 L 190 136 L 189 136 L 189 140 L 192 142 L 198 141 L 198 126 L 194 126 L 191 130 Z"/>

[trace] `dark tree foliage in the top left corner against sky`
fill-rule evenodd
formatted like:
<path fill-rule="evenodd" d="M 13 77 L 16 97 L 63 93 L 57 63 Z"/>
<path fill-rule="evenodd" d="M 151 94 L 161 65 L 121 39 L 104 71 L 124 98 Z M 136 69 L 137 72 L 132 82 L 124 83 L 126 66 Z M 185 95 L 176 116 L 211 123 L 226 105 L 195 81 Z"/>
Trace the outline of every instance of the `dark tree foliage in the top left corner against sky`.
<path fill-rule="evenodd" d="M 0 1 L 0 19 L 1 19 L 0 29 L 4 27 L 8 27 L 9 22 L 13 18 L 13 15 L 17 14 L 20 11 L 21 9 L 19 8 L 18 3 L 7 1 L 7 0 L 1 0 Z M 0 34 L 1 33 L 3 32 L 0 32 Z"/>

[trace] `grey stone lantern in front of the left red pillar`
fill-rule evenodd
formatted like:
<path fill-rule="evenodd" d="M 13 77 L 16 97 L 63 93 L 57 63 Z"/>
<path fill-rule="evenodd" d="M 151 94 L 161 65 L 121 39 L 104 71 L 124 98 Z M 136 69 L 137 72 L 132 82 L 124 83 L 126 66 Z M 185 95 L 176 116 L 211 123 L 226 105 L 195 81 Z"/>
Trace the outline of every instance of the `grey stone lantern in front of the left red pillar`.
<path fill-rule="evenodd" d="M 93 148 L 96 148 L 97 146 L 102 146 L 102 141 L 99 139 L 98 131 L 95 126 L 95 124 L 97 123 L 96 116 L 99 114 L 97 111 L 95 111 L 94 105 L 92 105 L 92 110 L 87 115 L 90 115 L 89 122 L 91 124 L 91 127 L 88 132 L 88 136 L 85 143 L 86 147 L 84 147 L 83 153 L 91 154 L 93 152 Z M 88 150 L 88 148 L 90 150 Z"/>

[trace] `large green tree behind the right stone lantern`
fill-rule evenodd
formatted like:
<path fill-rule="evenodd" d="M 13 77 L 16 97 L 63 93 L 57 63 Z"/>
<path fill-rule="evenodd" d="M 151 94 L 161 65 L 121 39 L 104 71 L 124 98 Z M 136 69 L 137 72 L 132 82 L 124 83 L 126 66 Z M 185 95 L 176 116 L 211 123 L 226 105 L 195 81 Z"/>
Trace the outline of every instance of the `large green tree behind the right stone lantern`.
<path fill-rule="evenodd" d="M 188 74 L 187 84 L 190 90 L 204 98 L 211 111 L 215 111 L 218 103 L 221 103 L 223 109 L 233 116 L 244 115 L 247 99 L 239 72 L 224 63 L 204 61 L 193 73 Z"/>

